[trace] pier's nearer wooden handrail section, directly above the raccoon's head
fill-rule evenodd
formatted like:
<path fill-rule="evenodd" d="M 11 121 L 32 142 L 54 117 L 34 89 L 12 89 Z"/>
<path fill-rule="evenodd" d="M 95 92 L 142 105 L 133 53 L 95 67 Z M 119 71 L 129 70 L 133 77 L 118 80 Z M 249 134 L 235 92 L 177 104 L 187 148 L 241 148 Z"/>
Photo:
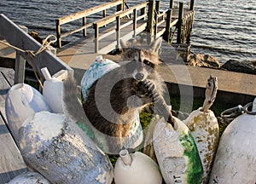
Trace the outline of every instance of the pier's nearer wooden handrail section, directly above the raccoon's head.
<path fill-rule="evenodd" d="M 99 41 L 102 40 L 104 37 L 108 37 L 109 35 L 116 32 L 116 41 L 117 41 L 117 48 L 119 48 L 119 40 L 120 40 L 120 30 L 125 28 L 125 26 L 129 26 L 133 24 L 133 34 L 136 35 L 137 32 L 137 21 L 138 20 L 145 20 L 147 16 L 147 6 L 148 2 L 137 4 L 136 6 L 131 7 L 130 9 L 126 9 L 122 12 L 118 12 L 116 14 L 110 15 L 108 17 L 105 17 L 101 20 L 97 20 L 94 22 L 94 29 L 95 29 L 95 52 L 97 53 L 99 50 Z M 140 16 L 137 16 L 137 11 L 140 11 Z M 120 20 L 124 19 L 125 16 L 132 17 L 131 20 L 125 22 L 125 24 L 120 25 Z M 100 36 L 99 30 L 102 26 L 106 26 L 110 23 L 116 23 L 116 29 L 111 32 L 104 33 Z M 147 22 L 145 21 L 143 26 L 147 25 Z"/>

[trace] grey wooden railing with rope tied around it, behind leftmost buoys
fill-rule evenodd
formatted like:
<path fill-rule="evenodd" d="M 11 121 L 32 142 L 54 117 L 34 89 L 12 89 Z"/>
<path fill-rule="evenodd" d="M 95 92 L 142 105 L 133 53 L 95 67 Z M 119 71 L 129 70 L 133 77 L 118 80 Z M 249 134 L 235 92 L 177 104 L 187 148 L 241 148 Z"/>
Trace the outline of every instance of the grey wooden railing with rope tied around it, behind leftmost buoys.
<path fill-rule="evenodd" d="M 0 35 L 16 48 L 33 51 L 37 51 L 41 48 L 40 43 L 24 32 L 19 26 L 16 26 L 15 23 L 9 20 L 4 14 L 0 14 L 0 27 Z M 42 53 L 32 58 L 32 60 L 26 59 L 29 59 L 29 57 L 27 57 L 25 53 L 16 51 L 15 83 L 24 83 L 26 61 L 28 61 L 31 66 L 36 67 L 35 69 L 39 76 L 43 76 L 40 69 L 45 66 L 48 67 L 51 75 L 61 70 L 73 72 L 71 67 L 67 66 L 62 60 L 49 52 L 49 50 L 44 50 Z"/>

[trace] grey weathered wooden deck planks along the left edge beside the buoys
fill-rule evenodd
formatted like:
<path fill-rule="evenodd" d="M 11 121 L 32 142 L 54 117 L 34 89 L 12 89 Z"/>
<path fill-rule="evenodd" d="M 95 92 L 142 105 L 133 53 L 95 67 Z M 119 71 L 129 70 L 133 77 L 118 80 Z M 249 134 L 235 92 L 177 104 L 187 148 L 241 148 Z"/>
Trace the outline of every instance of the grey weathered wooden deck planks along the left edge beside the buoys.
<path fill-rule="evenodd" d="M 6 126 L 5 98 L 14 82 L 14 70 L 0 68 L 0 183 L 9 182 L 26 171 L 26 164 Z"/>

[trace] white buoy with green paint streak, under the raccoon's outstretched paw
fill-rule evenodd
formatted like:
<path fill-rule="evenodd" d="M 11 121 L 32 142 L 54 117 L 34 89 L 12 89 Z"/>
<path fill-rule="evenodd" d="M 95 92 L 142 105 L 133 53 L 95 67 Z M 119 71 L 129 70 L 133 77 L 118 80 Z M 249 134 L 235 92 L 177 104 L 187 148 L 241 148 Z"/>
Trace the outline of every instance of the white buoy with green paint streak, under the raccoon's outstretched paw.
<path fill-rule="evenodd" d="M 154 128 L 154 152 L 167 184 L 201 183 L 203 169 L 195 141 L 188 127 L 175 118 L 176 129 L 164 118 Z"/>

